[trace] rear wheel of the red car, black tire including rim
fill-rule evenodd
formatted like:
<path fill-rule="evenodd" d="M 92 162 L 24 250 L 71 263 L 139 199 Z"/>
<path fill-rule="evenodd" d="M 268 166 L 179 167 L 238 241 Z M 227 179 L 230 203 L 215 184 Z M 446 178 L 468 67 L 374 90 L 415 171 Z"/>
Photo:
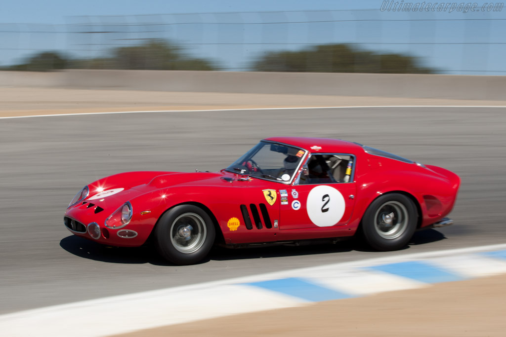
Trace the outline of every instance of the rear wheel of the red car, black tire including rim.
<path fill-rule="evenodd" d="M 408 197 L 392 193 L 374 200 L 362 217 L 366 242 L 378 251 L 405 247 L 416 229 L 417 211 Z"/>

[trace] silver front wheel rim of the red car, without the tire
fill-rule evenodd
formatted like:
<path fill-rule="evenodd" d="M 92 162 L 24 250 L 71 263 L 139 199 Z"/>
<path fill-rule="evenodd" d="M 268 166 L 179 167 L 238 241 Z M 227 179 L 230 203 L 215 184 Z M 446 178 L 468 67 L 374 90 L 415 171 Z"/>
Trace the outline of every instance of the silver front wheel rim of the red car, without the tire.
<path fill-rule="evenodd" d="M 179 252 L 189 254 L 198 251 L 207 235 L 204 219 L 195 213 L 178 216 L 171 226 L 171 242 Z"/>

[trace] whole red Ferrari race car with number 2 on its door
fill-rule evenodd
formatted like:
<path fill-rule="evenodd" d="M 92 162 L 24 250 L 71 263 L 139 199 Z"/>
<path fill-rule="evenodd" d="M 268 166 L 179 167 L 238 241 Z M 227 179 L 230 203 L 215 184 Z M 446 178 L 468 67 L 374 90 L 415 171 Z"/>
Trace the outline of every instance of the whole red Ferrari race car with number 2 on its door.
<path fill-rule="evenodd" d="M 152 236 L 176 264 L 214 244 L 240 247 L 352 236 L 381 251 L 452 224 L 459 177 L 345 140 L 274 137 L 219 172 L 128 172 L 83 187 L 65 226 L 108 246 Z"/>

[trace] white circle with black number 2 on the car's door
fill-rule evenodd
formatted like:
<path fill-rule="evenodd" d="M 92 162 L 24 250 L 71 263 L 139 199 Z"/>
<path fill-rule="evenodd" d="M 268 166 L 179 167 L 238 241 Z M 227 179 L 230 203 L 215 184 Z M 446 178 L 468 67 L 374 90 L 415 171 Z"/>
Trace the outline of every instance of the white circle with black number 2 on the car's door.
<path fill-rule="evenodd" d="M 345 214 L 345 199 L 340 191 L 327 185 L 316 186 L 308 194 L 306 209 L 309 219 L 318 227 L 330 227 Z"/>

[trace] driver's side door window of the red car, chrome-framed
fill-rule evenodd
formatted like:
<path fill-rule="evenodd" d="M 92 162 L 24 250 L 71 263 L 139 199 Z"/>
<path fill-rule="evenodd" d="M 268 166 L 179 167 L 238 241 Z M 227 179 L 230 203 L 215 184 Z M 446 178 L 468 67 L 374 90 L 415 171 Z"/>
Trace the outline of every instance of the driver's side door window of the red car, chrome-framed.
<path fill-rule="evenodd" d="M 311 155 L 300 184 L 350 182 L 354 158 L 350 155 Z"/>

